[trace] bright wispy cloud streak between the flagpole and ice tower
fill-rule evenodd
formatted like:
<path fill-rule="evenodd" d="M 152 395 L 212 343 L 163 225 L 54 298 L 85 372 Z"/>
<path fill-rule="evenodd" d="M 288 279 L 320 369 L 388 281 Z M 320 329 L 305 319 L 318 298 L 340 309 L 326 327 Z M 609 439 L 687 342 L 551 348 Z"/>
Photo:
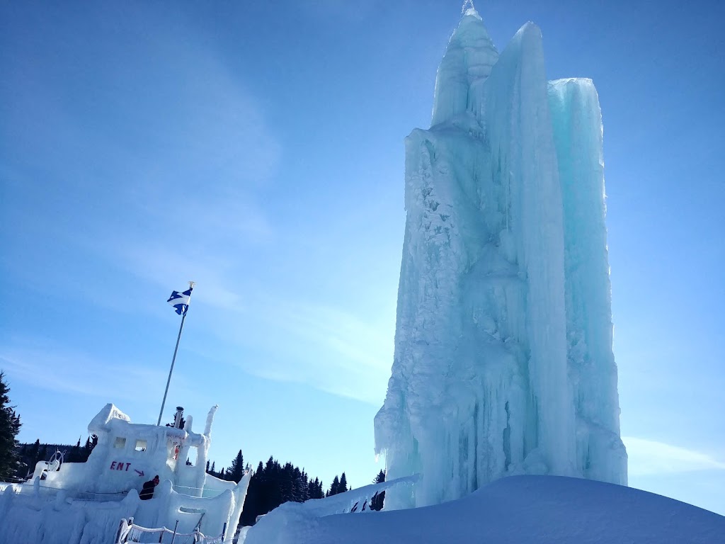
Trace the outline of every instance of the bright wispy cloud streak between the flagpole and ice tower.
<path fill-rule="evenodd" d="M 212 349 L 225 347 L 229 363 L 265 379 L 309 384 L 373 405 L 382 402 L 381 387 L 392 363 L 392 329 L 384 334 L 341 308 L 296 297 L 235 296 L 243 300 L 242 308 L 219 304 L 204 316 L 216 337 L 208 343 Z"/>

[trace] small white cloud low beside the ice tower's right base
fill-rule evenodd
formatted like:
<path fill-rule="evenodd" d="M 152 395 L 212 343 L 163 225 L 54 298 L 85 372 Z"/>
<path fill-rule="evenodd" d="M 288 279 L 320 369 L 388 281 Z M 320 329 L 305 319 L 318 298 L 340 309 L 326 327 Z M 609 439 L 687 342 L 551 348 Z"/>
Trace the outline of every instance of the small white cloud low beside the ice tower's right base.
<path fill-rule="evenodd" d="M 725 462 L 696 450 L 636 437 L 622 437 L 629 456 L 630 476 L 725 470 Z"/>

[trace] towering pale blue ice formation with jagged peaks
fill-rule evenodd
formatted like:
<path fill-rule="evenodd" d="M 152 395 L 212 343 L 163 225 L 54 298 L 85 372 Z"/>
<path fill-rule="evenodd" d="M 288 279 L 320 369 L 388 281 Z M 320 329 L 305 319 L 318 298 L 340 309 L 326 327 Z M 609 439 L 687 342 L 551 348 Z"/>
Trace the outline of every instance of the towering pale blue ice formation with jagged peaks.
<path fill-rule="evenodd" d="M 626 485 L 612 353 L 602 123 L 588 79 L 547 82 L 529 22 L 498 53 L 468 9 L 405 140 L 392 376 L 375 420 L 386 508 L 511 474 Z"/>

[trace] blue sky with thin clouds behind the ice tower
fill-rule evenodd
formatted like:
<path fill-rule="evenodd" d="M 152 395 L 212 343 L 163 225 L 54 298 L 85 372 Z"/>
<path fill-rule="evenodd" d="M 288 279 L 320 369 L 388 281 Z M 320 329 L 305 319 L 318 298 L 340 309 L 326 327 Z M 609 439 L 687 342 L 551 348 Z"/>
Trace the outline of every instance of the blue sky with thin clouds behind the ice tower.
<path fill-rule="evenodd" d="M 241 448 L 368 483 L 392 364 L 404 149 L 457 2 L 0 4 L 0 368 L 20 440 L 182 404 Z M 605 124 L 630 484 L 725 514 L 724 5 L 488 1 Z"/>

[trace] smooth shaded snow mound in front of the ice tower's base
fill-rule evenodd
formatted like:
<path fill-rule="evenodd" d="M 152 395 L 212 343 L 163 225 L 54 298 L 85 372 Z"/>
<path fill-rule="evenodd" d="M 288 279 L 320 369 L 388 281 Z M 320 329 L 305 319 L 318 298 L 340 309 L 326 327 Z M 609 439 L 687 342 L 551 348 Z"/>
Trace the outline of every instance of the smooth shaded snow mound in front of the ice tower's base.
<path fill-rule="evenodd" d="M 410 510 L 290 513 L 280 507 L 260 519 L 245 544 L 725 543 L 724 516 L 631 487 L 553 476 L 508 477 Z"/>

